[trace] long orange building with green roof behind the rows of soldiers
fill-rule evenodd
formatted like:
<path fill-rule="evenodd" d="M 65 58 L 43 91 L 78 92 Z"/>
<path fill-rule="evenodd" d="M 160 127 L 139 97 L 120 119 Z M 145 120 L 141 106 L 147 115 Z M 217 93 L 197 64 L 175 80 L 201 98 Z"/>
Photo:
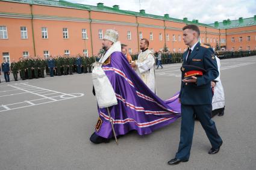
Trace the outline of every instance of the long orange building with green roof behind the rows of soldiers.
<path fill-rule="evenodd" d="M 0 1 L 0 55 L 8 61 L 30 56 L 97 55 L 107 29 L 119 32 L 119 41 L 128 52 L 139 52 L 139 40 L 147 38 L 153 52 L 183 53 L 183 26 L 196 24 L 201 43 L 223 50 L 256 49 L 256 16 L 224 20 L 213 24 L 174 19 L 168 14 L 155 16 L 105 7 L 73 4 L 67 1 Z M 242 38 L 241 38 L 242 37 Z"/>

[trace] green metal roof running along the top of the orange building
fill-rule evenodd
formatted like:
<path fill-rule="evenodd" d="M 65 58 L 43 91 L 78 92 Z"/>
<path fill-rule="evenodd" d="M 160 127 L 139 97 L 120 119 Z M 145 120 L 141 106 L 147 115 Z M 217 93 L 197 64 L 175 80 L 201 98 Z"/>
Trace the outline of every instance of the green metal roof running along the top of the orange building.
<path fill-rule="evenodd" d="M 228 28 L 239 28 L 243 26 L 252 26 L 256 25 L 256 15 L 251 18 L 243 19 L 239 18 L 239 20 L 223 20 L 223 22 L 214 22 L 211 24 L 199 23 L 198 20 L 187 20 L 186 17 L 183 19 L 175 19 L 173 17 L 169 17 L 169 14 L 164 14 L 164 16 L 157 16 L 154 14 L 147 14 L 145 10 L 140 10 L 140 12 L 128 11 L 128 10 L 120 10 L 119 5 L 114 5 L 113 7 L 104 6 L 103 3 L 98 3 L 97 6 L 86 5 L 86 4 L 76 4 L 68 1 L 52 1 L 52 0 L 0 0 L 0 1 L 9 1 L 9 2 L 19 2 L 25 4 L 35 4 L 35 5 L 49 5 L 54 7 L 66 7 L 66 8 L 78 8 L 83 10 L 90 11 L 103 11 L 108 13 L 117 13 L 117 14 L 127 14 L 131 16 L 140 16 L 140 17 L 149 17 L 152 19 L 160 19 L 160 20 L 169 20 L 173 22 L 181 22 L 187 24 L 195 24 L 199 26 L 207 26 L 210 28 L 217 29 L 228 29 Z"/>

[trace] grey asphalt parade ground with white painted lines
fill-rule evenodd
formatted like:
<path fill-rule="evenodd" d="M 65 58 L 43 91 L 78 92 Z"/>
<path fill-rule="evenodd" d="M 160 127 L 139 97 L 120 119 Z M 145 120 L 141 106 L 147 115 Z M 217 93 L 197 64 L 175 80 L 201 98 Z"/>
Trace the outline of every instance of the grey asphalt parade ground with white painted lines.
<path fill-rule="evenodd" d="M 91 74 L 0 83 L 0 169 L 255 169 L 256 56 L 223 59 L 225 115 L 214 117 L 219 153 L 199 122 L 189 162 L 167 165 L 180 141 L 181 119 L 151 135 L 129 133 L 108 144 L 89 141 L 98 119 Z M 180 90 L 181 64 L 156 70 L 157 93 Z"/>

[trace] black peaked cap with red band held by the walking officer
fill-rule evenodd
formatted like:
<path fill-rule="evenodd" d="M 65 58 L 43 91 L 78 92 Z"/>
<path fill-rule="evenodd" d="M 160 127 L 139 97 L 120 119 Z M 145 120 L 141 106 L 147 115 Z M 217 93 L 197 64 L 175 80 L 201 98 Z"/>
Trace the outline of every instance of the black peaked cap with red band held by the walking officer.
<path fill-rule="evenodd" d="M 206 73 L 206 70 L 201 67 L 196 67 L 194 65 L 183 65 L 181 71 L 184 73 L 184 78 L 189 79 L 192 76 L 202 76 Z"/>

